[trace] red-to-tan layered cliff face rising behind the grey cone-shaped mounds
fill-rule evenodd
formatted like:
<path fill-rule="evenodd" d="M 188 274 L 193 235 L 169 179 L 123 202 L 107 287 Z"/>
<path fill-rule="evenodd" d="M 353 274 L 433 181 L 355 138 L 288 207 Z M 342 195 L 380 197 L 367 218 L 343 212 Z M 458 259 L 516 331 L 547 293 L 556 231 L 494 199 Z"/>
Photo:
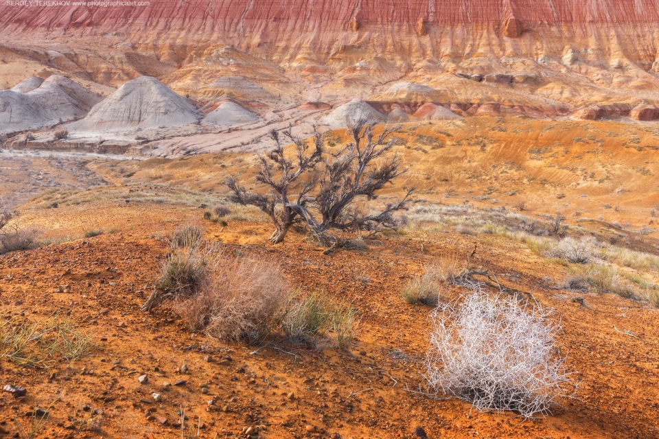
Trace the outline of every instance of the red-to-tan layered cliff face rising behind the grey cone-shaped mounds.
<path fill-rule="evenodd" d="M 205 105 L 360 97 L 386 114 L 432 102 L 531 117 L 659 105 L 659 0 L 33 4 L 0 5 L 8 88 L 23 62 L 113 87 L 152 75 Z"/>

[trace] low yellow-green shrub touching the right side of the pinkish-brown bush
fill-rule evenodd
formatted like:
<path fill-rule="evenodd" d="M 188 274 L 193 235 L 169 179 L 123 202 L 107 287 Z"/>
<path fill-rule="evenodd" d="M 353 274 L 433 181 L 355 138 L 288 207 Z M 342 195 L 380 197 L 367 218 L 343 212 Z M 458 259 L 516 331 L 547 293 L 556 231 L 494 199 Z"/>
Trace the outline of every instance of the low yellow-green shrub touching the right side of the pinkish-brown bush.
<path fill-rule="evenodd" d="M 281 327 L 290 340 L 312 343 L 325 332 L 331 321 L 331 302 L 324 294 L 315 293 L 290 298 Z"/>

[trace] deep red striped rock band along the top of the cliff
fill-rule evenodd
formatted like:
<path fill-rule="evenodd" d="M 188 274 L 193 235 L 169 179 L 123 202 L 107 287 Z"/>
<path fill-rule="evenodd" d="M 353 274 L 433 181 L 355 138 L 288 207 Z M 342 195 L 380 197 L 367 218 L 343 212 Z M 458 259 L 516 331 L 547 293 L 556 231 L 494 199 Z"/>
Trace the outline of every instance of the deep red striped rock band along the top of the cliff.
<path fill-rule="evenodd" d="M 508 22 L 509 19 L 515 21 Z M 656 0 L 155 0 L 148 7 L 0 6 L 0 26 L 106 27 L 131 23 L 170 30 L 240 29 L 246 22 L 477 24 L 507 23 L 656 23 Z M 119 30 L 119 27 L 117 27 Z M 513 33 L 517 32 L 511 29 Z"/>

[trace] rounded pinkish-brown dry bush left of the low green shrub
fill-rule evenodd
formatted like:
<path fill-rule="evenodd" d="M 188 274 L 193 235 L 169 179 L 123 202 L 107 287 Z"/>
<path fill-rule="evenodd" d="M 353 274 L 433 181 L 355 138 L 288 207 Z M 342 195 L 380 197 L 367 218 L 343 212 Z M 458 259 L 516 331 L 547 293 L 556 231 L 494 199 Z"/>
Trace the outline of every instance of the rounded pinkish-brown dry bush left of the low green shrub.
<path fill-rule="evenodd" d="M 210 263 L 194 294 L 175 309 L 196 331 L 220 340 L 259 342 L 279 324 L 288 284 L 275 263 L 235 259 Z"/>

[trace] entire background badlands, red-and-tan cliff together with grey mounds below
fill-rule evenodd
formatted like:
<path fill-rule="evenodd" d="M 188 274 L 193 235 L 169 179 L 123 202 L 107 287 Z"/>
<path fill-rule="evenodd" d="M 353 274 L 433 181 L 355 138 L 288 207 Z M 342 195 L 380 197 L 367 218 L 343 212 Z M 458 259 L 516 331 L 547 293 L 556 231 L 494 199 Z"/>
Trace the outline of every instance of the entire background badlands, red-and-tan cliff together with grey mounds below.
<path fill-rule="evenodd" d="M 356 114 L 649 122 L 657 23 L 649 0 L 5 3 L 0 135 L 176 155 L 261 149 L 273 128 Z"/>

